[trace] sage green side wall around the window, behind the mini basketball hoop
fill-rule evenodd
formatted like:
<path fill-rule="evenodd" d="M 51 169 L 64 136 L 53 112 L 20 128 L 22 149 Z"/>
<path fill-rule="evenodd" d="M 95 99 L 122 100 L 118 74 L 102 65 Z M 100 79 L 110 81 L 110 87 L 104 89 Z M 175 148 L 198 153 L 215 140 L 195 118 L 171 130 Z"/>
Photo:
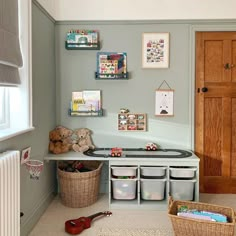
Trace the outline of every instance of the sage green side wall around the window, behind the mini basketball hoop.
<path fill-rule="evenodd" d="M 33 125 L 35 130 L 1 142 L 0 151 L 32 148 L 31 159 L 43 160 L 48 132 L 55 127 L 55 38 L 54 21 L 35 3 L 32 5 Z M 31 180 L 21 166 L 21 236 L 28 235 L 56 191 L 55 163 L 44 163 L 40 179 Z"/>

